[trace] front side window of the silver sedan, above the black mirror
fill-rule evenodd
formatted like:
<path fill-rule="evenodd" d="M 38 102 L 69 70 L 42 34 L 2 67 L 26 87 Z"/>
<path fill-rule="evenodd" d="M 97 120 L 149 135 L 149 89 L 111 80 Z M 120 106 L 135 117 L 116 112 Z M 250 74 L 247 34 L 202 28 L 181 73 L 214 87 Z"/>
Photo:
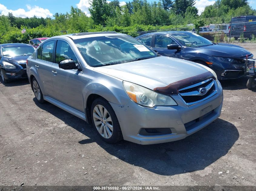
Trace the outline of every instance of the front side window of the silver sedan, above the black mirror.
<path fill-rule="evenodd" d="M 69 46 L 69 44 L 63 40 L 58 40 L 56 45 L 55 63 L 59 63 L 62 60 L 72 59 L 77 63 L 75 53 Z"/>

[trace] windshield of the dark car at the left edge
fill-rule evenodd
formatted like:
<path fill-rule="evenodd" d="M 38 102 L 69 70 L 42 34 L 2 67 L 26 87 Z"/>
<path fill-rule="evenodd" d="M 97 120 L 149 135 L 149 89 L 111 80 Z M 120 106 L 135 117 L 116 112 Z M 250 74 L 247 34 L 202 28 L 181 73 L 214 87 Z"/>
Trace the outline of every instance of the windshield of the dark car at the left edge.
<path fill-rule="evenodd" d="M 35 49 L 32 46 L 4 46 L 3 56 L 25 56 L 32 55 Z"/>

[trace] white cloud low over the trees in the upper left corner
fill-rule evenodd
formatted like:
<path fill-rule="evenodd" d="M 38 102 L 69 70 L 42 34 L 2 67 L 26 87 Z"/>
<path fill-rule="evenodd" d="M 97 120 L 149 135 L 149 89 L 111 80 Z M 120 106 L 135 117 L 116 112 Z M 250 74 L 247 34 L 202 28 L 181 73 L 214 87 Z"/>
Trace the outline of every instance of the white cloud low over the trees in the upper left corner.
<path fill-rule="evenodd" d="M 26 5 L 27 11 L 25 9 L 17 9 L 17 10 L 11 10 L 7 9 L 4 5 L 0 4 L 0 12 L 4 15 L 7 15 L 8 12 L 12 13 L 15 17 L 22 17 L 22 18 L 31 18 L 34 17 L 34 15 L 38 18 L 46 18 L 46 17 L 52 17 L 53 14 L 48 10 L 44 9 L 38 6 L 30 6 Z"/>

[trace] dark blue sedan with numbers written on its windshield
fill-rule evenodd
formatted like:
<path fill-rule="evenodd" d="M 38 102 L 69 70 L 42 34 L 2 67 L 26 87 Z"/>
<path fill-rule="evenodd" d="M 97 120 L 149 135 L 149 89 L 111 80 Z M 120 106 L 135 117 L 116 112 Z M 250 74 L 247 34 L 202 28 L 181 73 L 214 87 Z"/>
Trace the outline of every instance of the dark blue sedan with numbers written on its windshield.
<path fill-rule="evenodd" d="M 218 79 L 234 79 L 244 75 L 244 59 L 253 54 L 241 46 L 212 43 L 198 34 L 186 31 L 167 31 L 136 37 L 159 55 L 185 59 L 208 66 Z"/>

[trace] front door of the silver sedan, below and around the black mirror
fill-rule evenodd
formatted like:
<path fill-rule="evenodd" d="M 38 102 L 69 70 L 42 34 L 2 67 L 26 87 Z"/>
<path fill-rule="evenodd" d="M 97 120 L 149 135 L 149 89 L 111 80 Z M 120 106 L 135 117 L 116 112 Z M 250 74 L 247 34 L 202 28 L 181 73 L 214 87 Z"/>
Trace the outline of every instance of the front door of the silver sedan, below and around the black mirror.
<path fill-rule="evenodd" d="M 78 63 L 78 59 L 71 46 L 65 40 L 57 40 L 55 49 L 55 63 L 52 65 L 52 82 L 55 90 L 54 97 L 77 110 L 84 111 L 82 94 L 82 71 L 78 69 L 64 70 L 58 63 L 65 59 L 72 59 Z"/>

